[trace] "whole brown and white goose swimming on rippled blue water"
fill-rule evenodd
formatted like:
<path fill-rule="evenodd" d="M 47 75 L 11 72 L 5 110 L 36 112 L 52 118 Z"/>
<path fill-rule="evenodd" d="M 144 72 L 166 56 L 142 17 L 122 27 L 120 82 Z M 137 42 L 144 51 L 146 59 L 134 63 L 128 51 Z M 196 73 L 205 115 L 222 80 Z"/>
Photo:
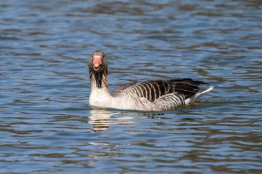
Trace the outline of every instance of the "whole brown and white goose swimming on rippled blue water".
<path fill-rule="evenodd" d="M 88 61 L 91 92 L 89 105 L 138 111 L 165 111 L 190 105 L 214 87 L 191 78 L 145 80 L 108 90 L 108 61 L 101 50 Z M 201 87 L 205 85 L 205 87 Z"/>

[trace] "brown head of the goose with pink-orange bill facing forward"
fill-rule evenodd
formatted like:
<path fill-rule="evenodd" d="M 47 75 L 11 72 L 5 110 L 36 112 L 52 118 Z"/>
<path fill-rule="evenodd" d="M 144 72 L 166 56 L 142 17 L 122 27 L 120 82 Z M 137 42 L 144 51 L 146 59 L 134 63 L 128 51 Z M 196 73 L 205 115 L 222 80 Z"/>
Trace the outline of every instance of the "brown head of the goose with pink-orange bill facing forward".
<path fill-rule="evenodd" d="M 92 52 L 91 58 L 88 61 L 89 70 L 95 73 L 106 72 L 108 69 L 108 61 L 105 54 L 101 50 Z"/>

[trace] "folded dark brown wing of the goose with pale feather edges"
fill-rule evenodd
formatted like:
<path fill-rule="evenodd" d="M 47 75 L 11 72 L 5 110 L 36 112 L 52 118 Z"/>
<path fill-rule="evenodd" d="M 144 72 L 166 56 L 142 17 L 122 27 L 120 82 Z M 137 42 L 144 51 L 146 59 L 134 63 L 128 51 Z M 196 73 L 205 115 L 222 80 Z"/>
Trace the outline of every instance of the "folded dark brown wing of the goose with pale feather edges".
<path fill-rule="evenodd" d="M 135 95 L 139 98 L 146 98 L 153 102 L 157 98 L 167 94 L 183 95 L 185 99 L 190 98 L 199 91 L 200 84 L 207 84 L 202 81 L 195 81 L 190 78 L 172 80 L 148 80 L 139 83 L 128 83 L 121 85 L 112 91 L 112 96 Z"/>

